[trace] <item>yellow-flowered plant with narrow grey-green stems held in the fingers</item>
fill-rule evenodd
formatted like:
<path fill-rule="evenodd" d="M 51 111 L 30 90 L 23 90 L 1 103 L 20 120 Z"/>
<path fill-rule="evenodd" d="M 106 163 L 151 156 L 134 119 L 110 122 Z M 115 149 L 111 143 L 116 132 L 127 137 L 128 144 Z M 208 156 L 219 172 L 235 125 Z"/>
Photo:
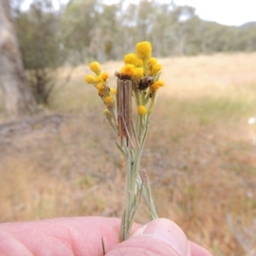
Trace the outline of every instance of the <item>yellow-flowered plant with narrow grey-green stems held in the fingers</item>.
<path fill-rule="evenodd" d="M 135 213 L 141 197 L 143 197 L 150 218 L 158 218 L 149 183 L 143 183 L 140 176 L 140 162 L 143 147 L 148 133 L 149 116 L 152 113 L 157 92 L 165 83 L 160 79 L 162 66 L 152 57 L 152 46 L 149 42 L 136 45 L 137 53 L 124 56 L 124 67 L 115 73 L 117 88 L 109 87 L 108 73 L 102 72 L 97 61 L 90 63 L 94 75 L 85 76 L 85 82 L 96 87 L 98 95 L 105 104 L 103 113 L 108 123 L 120 137 L 116 143 L 127 160 L 127 176 L 125 183 L 125 201 L 121 216 L 121 241 L 131 233 Z M 134 124 L 132 98 L 137 106 L 137 118 Z"/>

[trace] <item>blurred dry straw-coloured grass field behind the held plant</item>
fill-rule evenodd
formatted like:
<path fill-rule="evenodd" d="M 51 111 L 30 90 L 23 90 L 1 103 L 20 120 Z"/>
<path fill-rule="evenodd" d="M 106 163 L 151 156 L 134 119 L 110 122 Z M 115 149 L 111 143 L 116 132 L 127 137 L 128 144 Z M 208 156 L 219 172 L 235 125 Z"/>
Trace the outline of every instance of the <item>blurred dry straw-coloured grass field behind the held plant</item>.
<path fill-rule="evenodd" d="M 236 239 L 244 227 L 253 229 L 256 218 L 256 124 L 247 124 L 256 116 L 256 54 L 160 63 L 166 87 L 151 117 L 142 161 L 159 216 L 177 222 L 214 255 L 245 255 L 256 247 L 255 232 Z M 103 65 L 114 85 L 121 65 Z M 61 82 L 68 68 L 59 72 Z M 58 132 L 20 134 L 11 145 L 0 145 L 1 222 L 120 216 L 125 160 L 96 90 L 84 84 L 86 73 L 87 67 L 77 67 L 51 99 L 49 113 L 67 116 Z M 137 222 L 148 222 L 143 204 Z"/>

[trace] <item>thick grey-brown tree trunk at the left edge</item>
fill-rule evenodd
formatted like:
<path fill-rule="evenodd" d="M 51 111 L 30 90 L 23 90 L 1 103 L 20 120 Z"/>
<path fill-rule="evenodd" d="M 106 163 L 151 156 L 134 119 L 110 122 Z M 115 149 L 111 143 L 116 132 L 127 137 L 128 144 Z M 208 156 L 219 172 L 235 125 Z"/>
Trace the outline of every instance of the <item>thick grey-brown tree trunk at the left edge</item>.
<path fill-rule="evenodd" d="M 3 106 L 9 116 L 35 112 L 36 100 L 26 80 L 8 0 L 0 0 L 0 85 Z"/>

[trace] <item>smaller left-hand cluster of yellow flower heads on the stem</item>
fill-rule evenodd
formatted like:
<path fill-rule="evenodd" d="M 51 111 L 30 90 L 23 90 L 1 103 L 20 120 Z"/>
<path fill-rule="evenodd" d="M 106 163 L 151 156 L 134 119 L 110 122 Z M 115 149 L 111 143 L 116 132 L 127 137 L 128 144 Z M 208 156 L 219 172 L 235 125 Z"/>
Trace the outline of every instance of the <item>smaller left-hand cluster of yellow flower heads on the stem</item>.
<path fill-rule="evenodd" d="M 103 102 L 108 108 L 113 107 L 114 98 L 111 95 L 116 94 L 116 91 L 108 87 L 108 73 L 102 72 L 101 64 L 97 61 L 91 62 L 89 67 L 96 75 L 88 74 L 85 76 L 84 81 L 96 87 L 98 95 L 102 97 Z"/>

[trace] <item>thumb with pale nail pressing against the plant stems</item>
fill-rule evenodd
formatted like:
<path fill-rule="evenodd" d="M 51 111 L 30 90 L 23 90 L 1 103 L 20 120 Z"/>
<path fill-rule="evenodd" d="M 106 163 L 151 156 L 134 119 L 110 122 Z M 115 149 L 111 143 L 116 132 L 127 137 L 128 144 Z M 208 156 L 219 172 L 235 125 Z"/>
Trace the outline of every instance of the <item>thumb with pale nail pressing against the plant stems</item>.
<path fill-rule="evenodd" d="M 189 241 L 183 230 L 167 218 L 158 218 L 138 229 L 106 256 L 157 255 L 190 256 Z"/>

